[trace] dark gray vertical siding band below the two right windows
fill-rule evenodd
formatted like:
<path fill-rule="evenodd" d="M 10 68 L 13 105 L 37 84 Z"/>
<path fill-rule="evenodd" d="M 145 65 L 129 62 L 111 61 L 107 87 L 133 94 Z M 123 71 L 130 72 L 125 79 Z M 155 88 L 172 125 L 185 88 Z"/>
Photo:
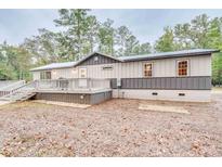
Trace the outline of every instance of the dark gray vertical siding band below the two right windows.
<path fill-rule="evenodd" d="M 121 78 L 121 89 L 210 90 L 211 77 Z"/>

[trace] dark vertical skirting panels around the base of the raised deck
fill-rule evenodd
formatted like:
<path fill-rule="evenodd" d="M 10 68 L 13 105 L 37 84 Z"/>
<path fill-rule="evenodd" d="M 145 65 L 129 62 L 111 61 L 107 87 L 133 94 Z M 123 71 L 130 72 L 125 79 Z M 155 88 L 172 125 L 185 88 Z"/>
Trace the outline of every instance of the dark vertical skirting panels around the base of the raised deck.
<path fill-rule="evenodd" d="M 83 95 L 83 99 L 80 98 L 81 95 Z M 92 94 L 38 92 L 35 99 L 79 104 L 99 104 L 112 99 L 112 91 Z"/>

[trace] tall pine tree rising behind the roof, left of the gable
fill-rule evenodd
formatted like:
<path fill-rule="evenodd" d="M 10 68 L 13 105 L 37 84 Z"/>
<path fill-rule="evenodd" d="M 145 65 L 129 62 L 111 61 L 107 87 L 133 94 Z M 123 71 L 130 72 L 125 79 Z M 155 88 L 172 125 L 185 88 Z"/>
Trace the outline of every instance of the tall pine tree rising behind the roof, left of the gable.
<path fill-rule="evenodd" d="M 58 10 L 60 18 L 54 20 L 56 26 L 67 28 L 64 35 L 68 40 L 64 40 L 64 42 L 66 42 L 66 49 L 73 55 L 73 60 L 79 60 L 89 52 L 86 43 L 89 41 L 89 31 L 92 31 L 91 25 L 94 24 L 95 21 L 94 17 L 88 16 L 88 11 L 89 10 L 84 9 L 62 9 Z"/>

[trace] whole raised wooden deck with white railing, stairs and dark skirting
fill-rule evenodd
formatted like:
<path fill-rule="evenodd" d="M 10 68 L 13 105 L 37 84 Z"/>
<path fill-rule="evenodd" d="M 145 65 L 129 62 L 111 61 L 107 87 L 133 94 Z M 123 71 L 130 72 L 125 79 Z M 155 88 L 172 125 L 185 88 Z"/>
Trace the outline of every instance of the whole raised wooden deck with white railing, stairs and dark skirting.
<path fill-rule="evenodd" d="M 97 104 L 112 99 L 110 80 L 90 78 L 35 80 L 1 99 L 8 101 L 36 99 Z"/>

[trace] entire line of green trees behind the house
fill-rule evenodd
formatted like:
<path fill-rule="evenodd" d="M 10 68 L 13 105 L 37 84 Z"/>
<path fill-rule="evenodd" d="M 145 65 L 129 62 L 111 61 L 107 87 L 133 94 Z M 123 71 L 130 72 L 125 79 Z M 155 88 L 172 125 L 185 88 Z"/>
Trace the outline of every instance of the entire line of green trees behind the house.
<path fill-rule="evenodd" d="M 164 27 L 164 35 L 151 44 L 140 42 L 125 25 L 114 27 L 109 18 L 99 22 L 89 11 L 58 10 L 53 21 L 57 31 L 41 28 L 38 36 L 18 46 L 0 43 L 0 79 L 30 80 L 31 67 L 77 61 L 94 51 L 122 56 L 195 48 L 222 50 L 222 17 L 201 14 L 188 23 Z M 222 53 L 212 56 L 212 82 L 222 84 Z"/>

